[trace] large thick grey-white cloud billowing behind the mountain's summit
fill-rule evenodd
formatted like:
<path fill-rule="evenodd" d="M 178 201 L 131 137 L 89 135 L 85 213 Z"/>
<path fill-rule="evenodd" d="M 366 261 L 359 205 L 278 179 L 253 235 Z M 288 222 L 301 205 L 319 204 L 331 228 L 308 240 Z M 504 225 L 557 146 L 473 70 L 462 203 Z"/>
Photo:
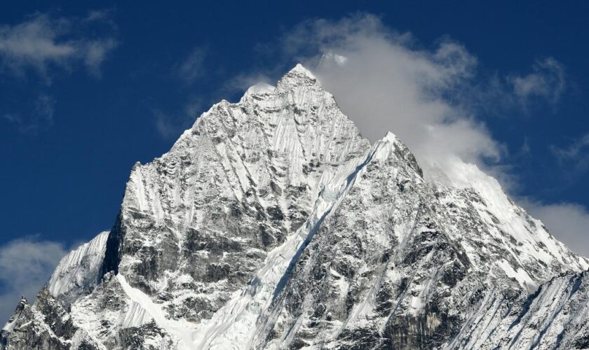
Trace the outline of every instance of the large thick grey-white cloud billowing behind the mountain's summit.
<path fill-rule="evenodd" d="M 451 167 L 454 158 L 485 164 L 501 146 L 470 118 L 456 96 L 477 60 L 459 43 L 419 48 L 372 15 L 306 22 L 285 39 L 290 50 L 316 45 L 317 75 L 371 141 L 394 130 L 424 167 Z"/>

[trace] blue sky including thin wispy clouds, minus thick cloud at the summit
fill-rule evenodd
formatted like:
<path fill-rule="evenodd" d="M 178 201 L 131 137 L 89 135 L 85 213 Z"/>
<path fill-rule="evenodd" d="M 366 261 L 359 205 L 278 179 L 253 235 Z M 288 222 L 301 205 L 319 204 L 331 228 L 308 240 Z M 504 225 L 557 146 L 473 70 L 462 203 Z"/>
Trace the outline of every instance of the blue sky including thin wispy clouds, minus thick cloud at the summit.
<path fill-rule="evenodd" d="M 34 293 L 60 254 L 108 230 L 133 164 L 165 153 L 212 103 L 235 101 L 248 85 L 273 82 L 296 62 L 313 65 L 325 52 L 351 50 L 348 39 L 358 35 L 371 45 L 394 41 L 392 48 L 418 52 L 439 69 L 466 66 L 435 92 L 482 135 L 473 142 L 492 142 L 473 161 L 500 176 L 556 237 L 589 251 L 584 2 L 14 1 L 3 7 L 0 303 L 20 290 Z M 353 41 L 360 42 L 368 41 Z M 449 43 L 452 56 L 440 59 Z M 359 57 L 379 50 L 370 46 Z M 338 92 L 337 99 L 346 96 Z M 356 123 L 370 134 L 383 127 L 378 121 Z M 497 154 L 489 156 L 489 148 Z M 13 266 L 14 256 L 27 263 Z"/>

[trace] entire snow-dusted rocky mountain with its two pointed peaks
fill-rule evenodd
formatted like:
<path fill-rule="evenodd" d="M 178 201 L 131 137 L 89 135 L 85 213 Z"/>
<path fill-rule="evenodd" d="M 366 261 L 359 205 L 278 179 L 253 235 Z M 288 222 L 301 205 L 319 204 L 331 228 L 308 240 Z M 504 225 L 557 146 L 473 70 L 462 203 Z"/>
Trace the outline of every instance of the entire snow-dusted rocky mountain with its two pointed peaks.
<path fill-rule="evenodd" d="M 588 260 L 473 165 L 426 180 L 297 65 L 133 167 L 0 349 L 583 349 Z"/>

